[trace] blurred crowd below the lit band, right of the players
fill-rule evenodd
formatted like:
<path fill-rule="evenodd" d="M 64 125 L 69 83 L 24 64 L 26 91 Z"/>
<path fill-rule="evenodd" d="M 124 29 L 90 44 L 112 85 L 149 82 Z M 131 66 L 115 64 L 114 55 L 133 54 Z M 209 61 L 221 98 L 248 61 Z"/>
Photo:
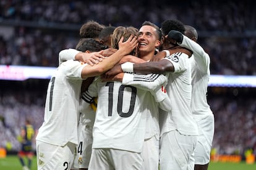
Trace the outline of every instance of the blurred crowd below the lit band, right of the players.
<path fill-rule="evenodd" d="M 256 154 L 256 105 L 254 98 L 215 97 L 208 100 L 215 115 L 213 148 L 219 154 Z"/>

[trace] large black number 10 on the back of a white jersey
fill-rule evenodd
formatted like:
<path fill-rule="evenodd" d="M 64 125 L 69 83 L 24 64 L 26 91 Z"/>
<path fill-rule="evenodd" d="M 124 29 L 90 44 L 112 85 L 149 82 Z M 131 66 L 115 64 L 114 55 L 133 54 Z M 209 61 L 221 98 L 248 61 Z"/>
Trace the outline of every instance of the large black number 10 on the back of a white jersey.
<path fill-rule="evenodd" d="M 108 92 L 108 116 L 112 116 L 113 113 L 113 91 L 114 91 L 114 82 L 108 82 L 106 83 L 106 86 L 109 87 L 109 92 Z M 122 111 L 122 103 L 124 102 L 124 89 L 125 88 L 130 88 L 130 108 L 127 113 L 124 113 Z M 134 105 L 135 105 L 135 100 L 136 100 L 136 94 L 137 94 L 137 89 L 133 86 L 125 86 L 121 85 L 118 90 L 118 102 L 117 102 L 117 113 L 119 116 L 122 118 L 128 118 L 129 116 L 134 113 Z"/>

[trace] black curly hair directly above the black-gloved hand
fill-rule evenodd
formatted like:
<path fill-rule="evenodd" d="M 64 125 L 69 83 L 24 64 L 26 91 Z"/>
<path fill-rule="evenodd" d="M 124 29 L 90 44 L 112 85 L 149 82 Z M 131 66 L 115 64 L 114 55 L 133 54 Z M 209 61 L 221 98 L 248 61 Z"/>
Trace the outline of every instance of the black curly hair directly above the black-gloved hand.
<path fill-rule="evenodd" d="M 161 23 L 161 31 L 164 36 L 166 36 L 171 30 L 180 31 L 182 34 L 184 34 L 185 26 L 179 20 L 165 20 Z"/>

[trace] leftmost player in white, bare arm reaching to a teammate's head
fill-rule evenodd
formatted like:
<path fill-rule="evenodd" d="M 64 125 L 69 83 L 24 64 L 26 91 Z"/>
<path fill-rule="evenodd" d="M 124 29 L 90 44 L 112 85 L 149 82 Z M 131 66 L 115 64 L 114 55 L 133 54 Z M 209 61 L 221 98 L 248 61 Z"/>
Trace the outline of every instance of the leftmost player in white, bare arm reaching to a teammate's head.
<path fill-rule="evenodd" d="M 137 46 L 137 38 L 130 36 L 126 42 L 122 40 L 123 38 L 119 42 L 118 51 L 96 65 L 67 60 L 56 69 L 48 85 L 45 120 L 36 137 L 38 169 L 70 169 L 70 163 L 74 160 L 74 148 L 78 144 L 78 108 L 82 80 L 109 70 Z M 74 52 L 74 55 L 88 56 L 83 52 Z"/>

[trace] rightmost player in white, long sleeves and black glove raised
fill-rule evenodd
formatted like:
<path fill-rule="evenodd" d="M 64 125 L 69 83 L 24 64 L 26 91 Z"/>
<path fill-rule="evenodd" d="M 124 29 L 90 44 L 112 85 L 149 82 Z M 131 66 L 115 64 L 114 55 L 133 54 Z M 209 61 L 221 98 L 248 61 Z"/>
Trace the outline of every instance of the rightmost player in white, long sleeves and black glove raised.
<path fill-rule="evenodd" d="M 184 36 L 179 31 L 170 31 L 168 38 L 175 39 L 177 44 L 193 51 L 190 57 L 192 67 L 192 100 L 191 107 L 198 124 L 198 143 L 195 148 L 195 170 L 207 170 L 210 163 L 211 144 L 214 135 L 214 116 L 207 102 L 207 87 L 210 77 L 210 57 L 197 44 L 197 31 L 186 25 Z"/>

